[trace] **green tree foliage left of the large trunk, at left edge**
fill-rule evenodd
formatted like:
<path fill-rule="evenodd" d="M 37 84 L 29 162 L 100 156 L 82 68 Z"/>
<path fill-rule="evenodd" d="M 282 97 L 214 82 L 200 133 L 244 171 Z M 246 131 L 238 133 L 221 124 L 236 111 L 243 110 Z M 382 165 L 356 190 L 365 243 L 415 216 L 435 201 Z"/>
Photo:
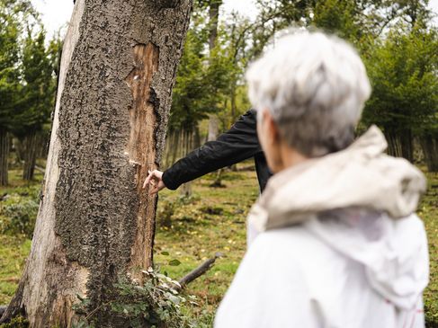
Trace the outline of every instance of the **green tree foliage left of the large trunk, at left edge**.
<path fill-rule="evenodd" d="M 0 0 L 0 24 L 0 129 L 24 135 L 49 120 L 59 42 L 52 40 L 46 49 L 29 0 Z"/>

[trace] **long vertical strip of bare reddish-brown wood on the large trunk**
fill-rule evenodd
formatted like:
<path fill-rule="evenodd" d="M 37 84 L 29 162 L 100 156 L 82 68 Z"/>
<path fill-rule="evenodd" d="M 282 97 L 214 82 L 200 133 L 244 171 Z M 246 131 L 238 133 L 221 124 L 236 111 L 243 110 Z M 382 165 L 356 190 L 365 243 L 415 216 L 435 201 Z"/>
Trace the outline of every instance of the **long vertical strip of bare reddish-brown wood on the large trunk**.
<path fill-rule="evenodd" d="M 130 256 L 130 267 L 134 269 L 152 266 L 156 196 L 149 196 L 147 191 L 143 191 L 142 184 L 147 177 L 147 170 L 156 169 L 156 104 L 159 101 L 151 84 L 158 70 L 159 49 L 154 43 L 148 42 L 147 45 L 137 44 L 133 52 L 134 67 L 125 81 L 132 92 L 127 153 L 130 164 L 136 168 L 139 194 L 137 232 Z"/>

